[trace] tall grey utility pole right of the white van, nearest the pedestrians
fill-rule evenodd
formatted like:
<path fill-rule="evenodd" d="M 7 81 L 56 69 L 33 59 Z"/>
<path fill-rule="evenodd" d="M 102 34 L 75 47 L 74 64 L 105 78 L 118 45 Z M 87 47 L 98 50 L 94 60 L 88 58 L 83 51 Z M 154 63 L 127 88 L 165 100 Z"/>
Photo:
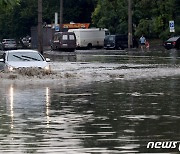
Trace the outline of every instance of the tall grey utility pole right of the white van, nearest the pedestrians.
<path fill-rule="evenodd" d="M 128 0 L 128 49 L 132 47 L 132 0 Z"/>

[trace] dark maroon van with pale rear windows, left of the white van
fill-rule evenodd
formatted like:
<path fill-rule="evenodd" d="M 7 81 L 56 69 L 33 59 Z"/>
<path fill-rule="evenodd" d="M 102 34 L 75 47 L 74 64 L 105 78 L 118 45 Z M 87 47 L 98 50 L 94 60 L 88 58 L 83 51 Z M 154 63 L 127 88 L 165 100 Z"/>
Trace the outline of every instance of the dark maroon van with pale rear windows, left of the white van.
<path fill-rule="evenodd" d="M 52 50 L 75 51 L 76 36 L 73 32 L 57 32 L 51 42 Z"/>

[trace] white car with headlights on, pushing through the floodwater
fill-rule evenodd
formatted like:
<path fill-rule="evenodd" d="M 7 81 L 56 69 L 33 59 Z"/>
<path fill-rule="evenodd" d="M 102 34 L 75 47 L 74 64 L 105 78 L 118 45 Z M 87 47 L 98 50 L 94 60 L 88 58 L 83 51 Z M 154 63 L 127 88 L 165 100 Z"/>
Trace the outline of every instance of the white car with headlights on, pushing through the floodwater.
<path fill-rule="evenodd" d="M 40 68 L 50 71 L 48 62 L 38 51 L 35 50 L 9 50 L 5 51 L 0 59 L 1 68 L 13 72 L 21 68 Z"/>

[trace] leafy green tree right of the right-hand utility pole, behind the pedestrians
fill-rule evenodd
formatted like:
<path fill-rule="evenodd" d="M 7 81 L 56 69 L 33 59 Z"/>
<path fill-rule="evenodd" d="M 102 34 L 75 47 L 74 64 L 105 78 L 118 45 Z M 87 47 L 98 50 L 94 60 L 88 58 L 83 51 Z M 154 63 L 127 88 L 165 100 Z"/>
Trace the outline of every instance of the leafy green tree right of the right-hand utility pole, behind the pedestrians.
<path fill-rule="evenodd" d="M 148 33 L 149 37 L 166 39 L 169 33 L 169 20 L 173 20 L 175 0 L 141 0 L 136 1 L 142 16 L 139 20 L 136 35 Z"/>

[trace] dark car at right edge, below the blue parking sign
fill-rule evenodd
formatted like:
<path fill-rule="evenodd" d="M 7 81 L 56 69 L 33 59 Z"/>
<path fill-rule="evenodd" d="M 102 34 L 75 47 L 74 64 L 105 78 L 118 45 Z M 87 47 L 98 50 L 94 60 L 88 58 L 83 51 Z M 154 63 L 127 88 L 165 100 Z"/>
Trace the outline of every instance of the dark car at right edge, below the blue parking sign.
<path fill-rule="evenodd" d="M 175 36 L 169 38 L 167 41 L 164 42 L 164 47 L 166 49 L 180 49 L 180 36 Z"/>

